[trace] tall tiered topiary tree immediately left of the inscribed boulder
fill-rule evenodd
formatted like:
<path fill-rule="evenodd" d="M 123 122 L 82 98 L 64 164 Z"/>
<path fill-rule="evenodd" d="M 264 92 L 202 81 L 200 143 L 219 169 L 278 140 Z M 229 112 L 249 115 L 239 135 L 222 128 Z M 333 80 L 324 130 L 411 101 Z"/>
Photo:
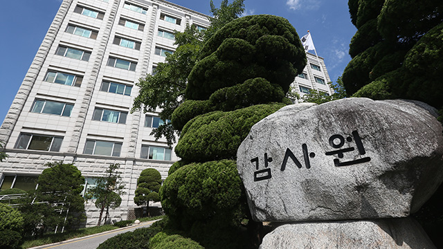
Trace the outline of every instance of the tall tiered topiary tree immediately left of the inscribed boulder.
<path fill-rule="evenodd" d="M 271 15 L 235 19 L 201 49 L 185 101 L 172 113 L 182 161 L 160 196 L 171 220 L 203 246 L 245 248 L 237 243 L 243 219 L 254 238 L 249 246 L 260 243 L 261 223 L 248 212 L 236 151 L 253 124 L 288 102 L 289 86 L 306 63 L 295 28 Z"/>

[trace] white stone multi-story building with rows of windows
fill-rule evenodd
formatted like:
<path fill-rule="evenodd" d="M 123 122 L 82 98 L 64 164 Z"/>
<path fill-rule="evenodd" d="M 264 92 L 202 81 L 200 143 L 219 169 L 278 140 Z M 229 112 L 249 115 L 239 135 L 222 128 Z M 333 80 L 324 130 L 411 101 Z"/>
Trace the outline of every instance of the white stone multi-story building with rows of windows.
<path fill-rule="evenodd" d="M 118 163 L 126 194 L 111 216 L 126 219 L 141 171 L 165 179 L 179 159 L 150 136 L 158 113 L 130 109 L 138 78 L 174 51 L 174 30 L 186 25 L 205 28 L 208 16 L 163 0 L 64 0 L 0 128 L 1 190 L 33 189 L 45 163 L 61 160 L 80 169 L 87 190 Z M 323 59 L 311 57 L 294 84 L 330 94 Z M 91 201 L 86 208 L 93 225 L 98 212 Z"/>

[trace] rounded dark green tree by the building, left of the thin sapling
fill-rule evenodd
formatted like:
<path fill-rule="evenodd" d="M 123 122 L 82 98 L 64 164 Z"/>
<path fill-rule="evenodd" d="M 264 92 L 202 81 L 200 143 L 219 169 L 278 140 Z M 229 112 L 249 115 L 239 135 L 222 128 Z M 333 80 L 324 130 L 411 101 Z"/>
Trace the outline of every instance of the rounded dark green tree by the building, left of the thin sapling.
<path fill-rule="evenodd" d="M 84 216 L 84 199 L 80 195 L 83 190 L 84 177 L 82 172 L 72 163 L 46 163 L 37 180 L 35 191 L 35 208 L 37 217 L 41 217 L 43 228 L 56 229 L 76 228 Z"/>

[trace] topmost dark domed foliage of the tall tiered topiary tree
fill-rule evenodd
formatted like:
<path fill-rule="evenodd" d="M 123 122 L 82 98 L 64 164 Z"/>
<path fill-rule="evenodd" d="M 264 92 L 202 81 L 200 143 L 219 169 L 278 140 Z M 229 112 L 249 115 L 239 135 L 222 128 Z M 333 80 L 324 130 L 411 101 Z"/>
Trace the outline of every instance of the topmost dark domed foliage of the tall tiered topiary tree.
<path fill-rule="evenodd" d="M 271 15 L 231 21 L 205 43 L 188 77 L 185 97 L 205 100 L 218 89 L 262 77 L 289 90 L 306 65 L 305 50 L 289 21 Z"/>

